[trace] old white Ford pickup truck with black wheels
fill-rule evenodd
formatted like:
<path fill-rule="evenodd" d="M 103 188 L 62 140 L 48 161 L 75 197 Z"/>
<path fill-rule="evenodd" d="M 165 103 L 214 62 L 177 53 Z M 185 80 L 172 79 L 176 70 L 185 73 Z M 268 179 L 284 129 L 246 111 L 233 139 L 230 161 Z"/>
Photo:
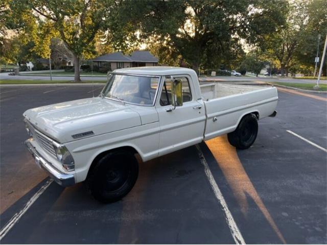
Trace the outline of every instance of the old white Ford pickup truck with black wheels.
<path fill-rule="evenodd" d="M 60 185 L 85 181 L 95 199 L 120 200 L 136 182 L 138 160 L 178 151 L 219 135 L 247 149 L 258 120 L 275 116 L 271 86 L 200 85 L 194 70 L 114 70 L 98 97 L 24 112 L 25 143 Z"/>

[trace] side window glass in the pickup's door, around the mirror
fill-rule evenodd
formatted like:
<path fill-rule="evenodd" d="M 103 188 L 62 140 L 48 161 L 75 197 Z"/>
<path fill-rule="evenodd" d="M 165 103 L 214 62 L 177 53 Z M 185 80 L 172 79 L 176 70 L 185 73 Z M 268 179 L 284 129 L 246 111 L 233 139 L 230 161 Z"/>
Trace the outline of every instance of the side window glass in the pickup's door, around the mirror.
<path fill-rule="evenodd" d="M 183 92 L 183 103 L 192 101 L 192 93 L 190 88 L 189 80 L 185 77 L 176 77 L 175 79 L 182 80 L 182 92 Z M 160 106 L 168 106 L 172 104 L 172 82 L 170 79 L 166 79 L 164 87 L 162 87 L 160 96 Z"/>

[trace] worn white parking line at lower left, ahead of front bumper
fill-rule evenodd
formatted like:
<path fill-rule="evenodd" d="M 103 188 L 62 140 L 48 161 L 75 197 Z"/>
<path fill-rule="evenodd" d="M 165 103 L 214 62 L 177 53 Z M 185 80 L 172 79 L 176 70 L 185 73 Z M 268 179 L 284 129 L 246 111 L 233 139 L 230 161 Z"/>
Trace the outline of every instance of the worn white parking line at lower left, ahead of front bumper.
<path fill-rule="evenodd" d="M 40 197 L 40 195 L 50 186 L 53 182 L 52 179 L 46 181 L 46 183 L 33 195 L 33 197 L 26 203 L 24 208 L 22 208 L 18 213 L 15 213 L 14 216 L 9 220 L 5 227 L 0 231 L 0 241 L 4 238 L 7 233 L 13 228 L 13 226 L 19 221 L 22 215 L 32 206 L 32 204 Z"/>

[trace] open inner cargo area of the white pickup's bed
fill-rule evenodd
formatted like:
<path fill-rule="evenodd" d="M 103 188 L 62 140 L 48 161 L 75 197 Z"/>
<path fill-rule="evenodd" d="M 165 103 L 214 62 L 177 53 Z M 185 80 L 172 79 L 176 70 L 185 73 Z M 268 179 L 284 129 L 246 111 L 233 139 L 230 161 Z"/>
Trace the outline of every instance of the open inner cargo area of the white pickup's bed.
<path fill-rule="evenodd" d="M 238 85 L 210 83 L 200 85 L 202 99 L 209 101 L 230 95 L 243 94 L 254 90 L 265 89 L 270 86 L 263 85 Z"/>

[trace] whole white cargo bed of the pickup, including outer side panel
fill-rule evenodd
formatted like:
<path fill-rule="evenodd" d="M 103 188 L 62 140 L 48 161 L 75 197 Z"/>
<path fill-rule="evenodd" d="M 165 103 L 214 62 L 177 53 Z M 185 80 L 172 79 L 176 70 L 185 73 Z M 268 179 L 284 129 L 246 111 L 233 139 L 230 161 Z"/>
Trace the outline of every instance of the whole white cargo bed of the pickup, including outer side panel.
<path fill-rule="evenodd" d="M 234 131 L 249 113 L 258 119 L 271 115 L 278 100 L 272 86 L 213 83 L 200 89 L 207 115 L 205 140 Z"/>

